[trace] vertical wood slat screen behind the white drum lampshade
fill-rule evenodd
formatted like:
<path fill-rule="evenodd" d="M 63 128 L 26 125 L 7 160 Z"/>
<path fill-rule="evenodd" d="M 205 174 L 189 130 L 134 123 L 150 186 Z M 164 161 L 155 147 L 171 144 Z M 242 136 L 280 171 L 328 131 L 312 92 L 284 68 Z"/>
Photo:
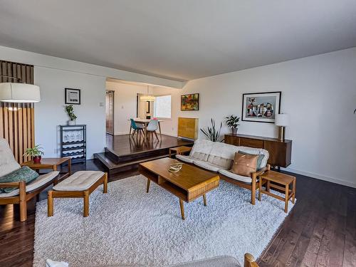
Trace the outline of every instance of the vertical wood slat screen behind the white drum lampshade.
<path fill-rule="evenodd" d="M 21 80 L 0 76 L 0 83 L 33 84 L 33 66 L 9 61 L 0 61 L 0 75 L 20 78 Z M 14 153 L 17 162 L 28 160 L 23 157 L 26 148 L 35 145 L 33 103 L 0 102 L 0 137 L 5 138 Z"/>

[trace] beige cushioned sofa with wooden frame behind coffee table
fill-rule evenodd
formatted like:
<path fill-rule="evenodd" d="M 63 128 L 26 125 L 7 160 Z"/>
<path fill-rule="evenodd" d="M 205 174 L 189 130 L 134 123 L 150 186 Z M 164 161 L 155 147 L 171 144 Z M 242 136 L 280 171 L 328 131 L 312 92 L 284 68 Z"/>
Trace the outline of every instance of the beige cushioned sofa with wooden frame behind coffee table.
<path fill-rule="evenodd" d="M 250 177 L 234 174 L 230 171 L 234 162 L 235 153 L 239 151 L 253 155 L 263 155 L 263 159 L 261 160 L 261 164 L 259 164 L 257 171 L 251 173 Z M 255 204 L 258 175 L 261 175 L 270 168 L 267 164 L 268 157 L 268 151 L 261 148 L 238 147 L 222 142 L 211 142 L 209 140 L 195 141 L 189 156 L 176 155 L 176 158 L 182 162 L 194 164 L 195 166 L 210 172 L 219 173 L 221 179 L 237 184 L 240 187 L 250 189 L 251 204 Z"/>

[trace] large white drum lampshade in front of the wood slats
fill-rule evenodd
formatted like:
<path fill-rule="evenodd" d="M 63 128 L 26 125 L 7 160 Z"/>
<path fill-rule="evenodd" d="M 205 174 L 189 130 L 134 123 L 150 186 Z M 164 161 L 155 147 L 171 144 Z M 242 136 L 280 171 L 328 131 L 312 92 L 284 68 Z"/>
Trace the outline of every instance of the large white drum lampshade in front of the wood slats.
<path fill-rule="evenodd" d="M 19 80 L 20 78 L 0 75 Z M 35 103 L 41 101 L 40 88 L 28 83 L 0 83 L 0 101 L 10 103 Z"/>

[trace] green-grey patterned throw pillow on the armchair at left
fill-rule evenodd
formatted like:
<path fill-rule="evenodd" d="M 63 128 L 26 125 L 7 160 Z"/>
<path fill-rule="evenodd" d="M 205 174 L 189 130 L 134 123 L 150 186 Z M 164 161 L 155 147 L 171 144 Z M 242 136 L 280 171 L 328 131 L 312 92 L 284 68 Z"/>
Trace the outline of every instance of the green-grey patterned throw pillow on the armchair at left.
<path fill-rule="evenodd" d="M 16 171 L 6 174 L 3 177 L 0 177 L 0 183 L 26 181 L 27 184 L 33 179 L 36 179 L 38 176 L 39 174 L 33 169 L 30 169 L 27 166 L 23 166 L 21 169 L 16 169 Z M 0 193 L 9 193 L 15 189 L 16 187 L 0 188 Z"/>

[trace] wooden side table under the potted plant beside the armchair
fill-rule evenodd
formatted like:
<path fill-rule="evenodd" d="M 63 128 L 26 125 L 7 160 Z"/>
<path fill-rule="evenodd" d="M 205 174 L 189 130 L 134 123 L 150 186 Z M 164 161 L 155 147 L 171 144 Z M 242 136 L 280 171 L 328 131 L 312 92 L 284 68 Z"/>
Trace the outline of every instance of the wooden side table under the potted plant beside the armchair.
<path fill-rule="evenodd" d="M 35 169 L 36 172 L 39 172 L 40 169 L 52 169 L 53 171 L 58 170 L 58 166 L 68 162 L 68 172 L 60 172 L 61 179 L 66 179 L 70 176 L 71 166 L 70 166 L 70 157 L 52 157 L 52 158 L 43 158 L 41 162 L 35 163 L 33 160 L 29 160 L 28 162 L 21 163 L 21 166 L 28 166 L 31 169 Z"/>

